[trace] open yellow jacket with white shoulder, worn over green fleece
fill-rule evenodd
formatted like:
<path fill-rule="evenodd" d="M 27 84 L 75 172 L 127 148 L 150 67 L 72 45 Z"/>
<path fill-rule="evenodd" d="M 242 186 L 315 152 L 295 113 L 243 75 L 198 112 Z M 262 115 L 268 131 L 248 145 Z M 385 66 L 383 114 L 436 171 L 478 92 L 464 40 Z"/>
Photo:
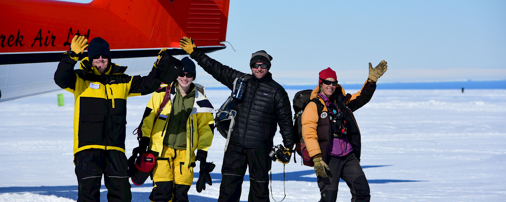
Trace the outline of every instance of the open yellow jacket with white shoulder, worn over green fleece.
<path fill-rule="evenodd" d="M 195 84 L 195 102 L 193 110 L 186 121 L 186 155 L 184 165 L 192 165 L 195 162 L 195 150 L 202 149 L 207 151 L 213 142 L 213 129 L 215 109 L 205 96 L 205 88 L 202 85 Z M 144 112 L 142 119 L 142 136 L 150 137 L 148 150 L 155 156 L 160 156 L 163 150 L 163 131 L 166 129 L 167 122 L 170 121 L 172 112 L 172 103 L 176 97 L 176 85 L 162 84 L 159 90 L 153 93 Z M 161 110 L 160 115 L 156 113 L 160 109 L 166 88 L 170 88 L 171 100 L 167 102 Z M 168 135 L 168 134 L 165 134 Z M 194 164 L 193 164 L 194 165 Z"/>

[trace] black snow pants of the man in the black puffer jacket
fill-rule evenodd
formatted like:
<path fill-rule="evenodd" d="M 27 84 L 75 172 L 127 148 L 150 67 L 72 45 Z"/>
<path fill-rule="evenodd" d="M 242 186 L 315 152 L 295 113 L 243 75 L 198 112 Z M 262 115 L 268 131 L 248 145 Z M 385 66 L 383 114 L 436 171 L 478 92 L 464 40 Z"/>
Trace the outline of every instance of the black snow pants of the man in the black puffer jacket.
<path fill-rule="evenodd" d="M 237 202 L 241 197 L 242 181 L 249 166 L 248 201 L 269 200 L 270 149 L 244 148 L 229 144 L 223 156 L 222 182 L 219 202 Z"/>

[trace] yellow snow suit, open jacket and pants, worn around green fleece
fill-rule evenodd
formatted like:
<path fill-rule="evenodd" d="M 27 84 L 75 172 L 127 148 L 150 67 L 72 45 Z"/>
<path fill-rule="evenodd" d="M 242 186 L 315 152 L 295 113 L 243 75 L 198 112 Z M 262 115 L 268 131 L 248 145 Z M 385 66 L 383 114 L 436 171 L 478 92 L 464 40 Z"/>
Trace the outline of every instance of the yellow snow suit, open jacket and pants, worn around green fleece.
<path fill-rule="evenodd" d="M 205 97 L 205 88 L 195 84 L 195 101 L 193 110 L 186 124 L 186 149 L 175 149 L 163 145 L 163 131 L 167 122 L 171 121 L 172 103 L 176 97 L 176 85 L 160 85 L 149 100 L 144 113 L 142 136 L 150 137 L 148 151 L 156 157 L 153 169 L 155 187 L 150 200 L 172 201 L 174 194 L 187 197 L 187 192 L 193 183 L 193 167 L 195 167 L 195 150 L 207 151 L 213 141 L 215 112 L 213 106 Z M 166 88 L 170 88 L 171 99 L 160 114 L 156 116 Z M 168 135 L 168 134 L 164 134 Z M 178 196 L 176 196 L 178 197 Z"/>

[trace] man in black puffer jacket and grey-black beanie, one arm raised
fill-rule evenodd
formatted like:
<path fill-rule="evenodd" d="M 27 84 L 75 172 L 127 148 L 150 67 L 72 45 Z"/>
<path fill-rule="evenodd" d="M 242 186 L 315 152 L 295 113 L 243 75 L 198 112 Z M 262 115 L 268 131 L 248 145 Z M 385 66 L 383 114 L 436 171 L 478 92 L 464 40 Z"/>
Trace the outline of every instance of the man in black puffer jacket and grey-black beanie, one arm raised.
<path fill-rule="evenodd" d="M 196 48 L 191 38 L 183 37 L 179 43 L 200 67 L 231 90 L 234 89 L 234 80 L 245 74 L 206 56 Z M 253 76 L 247 81 L 242 102 L 234 106 L 237 115 L 223 157 L 223 180 L 218 201 L 239 201 L 248 166 L 248 201 L 269 201 L 268 172 L 272 163 L 269 152 L 277 130 L 276 123 L 283 137 L 285 154 L 291 154 L 294 141 L 290 101 L 284 88 L 272 80 L 269 73 L 271 60 L 272 57 L 265 51 L 251 56 L 249 64 Z"/>

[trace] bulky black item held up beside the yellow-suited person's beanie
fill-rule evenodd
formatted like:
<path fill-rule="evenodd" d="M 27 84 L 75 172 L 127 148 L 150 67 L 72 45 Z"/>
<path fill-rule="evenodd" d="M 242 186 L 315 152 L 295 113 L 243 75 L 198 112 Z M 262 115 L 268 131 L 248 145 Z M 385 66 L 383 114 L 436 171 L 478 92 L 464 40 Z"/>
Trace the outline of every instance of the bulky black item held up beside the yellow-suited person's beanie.
<path fill-rule="evenodd" d="M 161 49 L 160 54 L 160 58 L 156 61 L 155 66 L 161 71 L 161 81 L 163 83 L 172 83 L 181 74 L 184 65 L 180 60 L 169 55 L 164 49 Z"/>

